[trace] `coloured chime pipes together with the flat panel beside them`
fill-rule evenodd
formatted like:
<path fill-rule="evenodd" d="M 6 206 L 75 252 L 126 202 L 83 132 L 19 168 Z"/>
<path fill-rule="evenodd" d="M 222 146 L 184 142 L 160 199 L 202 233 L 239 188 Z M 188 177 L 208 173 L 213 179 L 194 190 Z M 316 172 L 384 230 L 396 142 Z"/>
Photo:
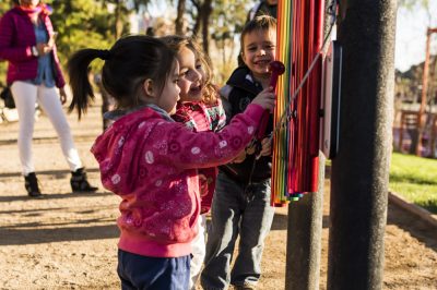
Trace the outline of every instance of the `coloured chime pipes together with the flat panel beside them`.
<path fill-rule="evenodd" d="M 336 154 L 342 51 L 330 33 L 323 40 L 324 1 L 279 1 L 277 11 L 276 59 L 285 72 L 276 87 L 271 200 L 282 206 L 317 192 L 319 150 Z"/>

